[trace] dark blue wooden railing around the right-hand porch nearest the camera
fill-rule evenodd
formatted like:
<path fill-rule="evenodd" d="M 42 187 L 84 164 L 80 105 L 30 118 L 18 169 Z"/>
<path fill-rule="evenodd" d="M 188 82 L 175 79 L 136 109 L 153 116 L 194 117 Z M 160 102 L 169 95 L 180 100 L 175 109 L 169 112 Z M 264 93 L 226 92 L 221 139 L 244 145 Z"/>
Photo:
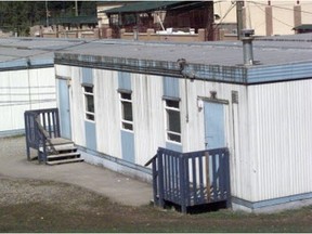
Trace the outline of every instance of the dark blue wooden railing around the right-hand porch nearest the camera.
<path fill-rule="evenodd" d="M 231 205 L 229 150 L 179 153 L 158 148 L 152 162 L 155 205 L 187 207 L 225 202 Z"/>

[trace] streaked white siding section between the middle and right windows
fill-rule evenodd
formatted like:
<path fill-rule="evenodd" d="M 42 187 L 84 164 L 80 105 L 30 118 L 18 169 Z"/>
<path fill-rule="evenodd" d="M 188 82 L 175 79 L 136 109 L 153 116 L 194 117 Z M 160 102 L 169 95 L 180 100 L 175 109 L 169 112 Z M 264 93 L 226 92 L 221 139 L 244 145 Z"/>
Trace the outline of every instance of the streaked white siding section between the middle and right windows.
<path fill-rule="evenodd" d="M 132 74 L 135 162 L 143 166 L 165 146 L 162 77 Z"/>

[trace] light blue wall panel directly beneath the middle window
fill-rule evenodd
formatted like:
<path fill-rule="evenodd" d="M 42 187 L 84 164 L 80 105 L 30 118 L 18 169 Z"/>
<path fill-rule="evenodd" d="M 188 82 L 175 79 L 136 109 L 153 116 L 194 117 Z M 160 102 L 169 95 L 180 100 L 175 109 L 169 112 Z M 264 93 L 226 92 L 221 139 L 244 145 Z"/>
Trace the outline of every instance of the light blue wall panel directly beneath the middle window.
<path fill-rule="evenodd" d="M 121 130 L 122 159 L 135 164 L 134 134 Z"/>

